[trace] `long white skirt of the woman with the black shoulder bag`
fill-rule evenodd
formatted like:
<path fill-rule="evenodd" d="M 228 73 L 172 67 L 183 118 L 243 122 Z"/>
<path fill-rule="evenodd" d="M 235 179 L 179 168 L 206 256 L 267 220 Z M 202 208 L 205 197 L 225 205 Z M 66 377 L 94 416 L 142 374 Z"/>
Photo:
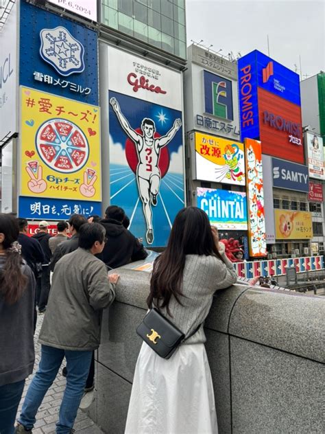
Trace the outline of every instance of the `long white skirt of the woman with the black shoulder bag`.
<path fill-rule="evenodd" d="M 203 343 L 165 360 L 143 343 L 125 434 L 217 434 L 213 383 Z"/>

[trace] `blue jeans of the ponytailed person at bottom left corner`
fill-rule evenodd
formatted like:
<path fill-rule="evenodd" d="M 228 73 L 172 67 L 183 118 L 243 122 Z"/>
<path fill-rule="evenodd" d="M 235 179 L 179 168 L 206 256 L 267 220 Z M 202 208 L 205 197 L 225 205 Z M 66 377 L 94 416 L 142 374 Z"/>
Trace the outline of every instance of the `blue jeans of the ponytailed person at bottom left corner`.
<path fill-rule="evenodd" d="M 11 382 L 9 385 L 0 386 L 0 433 L 14 434 L 14 421 L 25 380 Z"/>

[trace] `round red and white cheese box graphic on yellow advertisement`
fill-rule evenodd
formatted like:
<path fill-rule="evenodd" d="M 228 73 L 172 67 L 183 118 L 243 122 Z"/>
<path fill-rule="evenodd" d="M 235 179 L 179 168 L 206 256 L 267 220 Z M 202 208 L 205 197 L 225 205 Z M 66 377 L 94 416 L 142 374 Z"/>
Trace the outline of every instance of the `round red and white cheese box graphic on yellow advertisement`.
<path fill-rule="evenodd" d="M 67 119 L 49 119 L 36 134 L 36 149 L 51 169 L 72 173 L 86 164 L 89 144 L 83 131 Z"/>

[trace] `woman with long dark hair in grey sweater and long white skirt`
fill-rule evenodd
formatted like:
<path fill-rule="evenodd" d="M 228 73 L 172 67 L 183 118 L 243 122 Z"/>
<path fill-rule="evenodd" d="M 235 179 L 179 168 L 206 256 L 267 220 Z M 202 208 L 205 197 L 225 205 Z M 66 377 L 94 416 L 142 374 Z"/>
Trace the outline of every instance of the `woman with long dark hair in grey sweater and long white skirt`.
<path fill-rule="evenodd" d="M 203 323 L 215 291 L 236 281 L 205 212 L 181 209 L 166 250 L 154 262 L 147 306 L 158 308 L 185 336 L 200 328 L 169 359 L 143 343 L 125 433 L 217 433 Z"/>

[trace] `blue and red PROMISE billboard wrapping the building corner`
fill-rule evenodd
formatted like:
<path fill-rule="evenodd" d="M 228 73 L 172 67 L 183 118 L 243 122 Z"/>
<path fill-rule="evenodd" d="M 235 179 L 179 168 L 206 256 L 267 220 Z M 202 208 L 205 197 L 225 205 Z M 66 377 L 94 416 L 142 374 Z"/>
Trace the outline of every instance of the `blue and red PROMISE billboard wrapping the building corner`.
<path fill-rule="evenodd" d="M 304 163 L 299 76 L 255 50 L 238 60 L 241 140 L 262 152 Z"/>

